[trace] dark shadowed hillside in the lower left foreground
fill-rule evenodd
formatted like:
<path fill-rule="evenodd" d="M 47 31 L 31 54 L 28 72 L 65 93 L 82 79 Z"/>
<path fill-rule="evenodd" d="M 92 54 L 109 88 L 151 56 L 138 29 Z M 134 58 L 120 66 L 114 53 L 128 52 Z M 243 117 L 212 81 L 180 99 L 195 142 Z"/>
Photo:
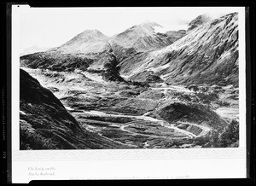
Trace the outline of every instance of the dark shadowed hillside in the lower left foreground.
<path fill-rule="evenodd" d="M 38 80 L 20 69 L 20 149 L 123 148 L 85 131 Z"/>

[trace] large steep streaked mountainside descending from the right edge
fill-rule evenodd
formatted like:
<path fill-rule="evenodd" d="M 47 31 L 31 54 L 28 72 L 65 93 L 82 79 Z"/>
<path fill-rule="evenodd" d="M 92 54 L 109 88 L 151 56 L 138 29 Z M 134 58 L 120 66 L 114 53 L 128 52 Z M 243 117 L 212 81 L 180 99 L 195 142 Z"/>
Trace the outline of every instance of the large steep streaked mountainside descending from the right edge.
<path fill-rule="evenodd" d="M 151 72 L 172 84 L 238 84 L 238 15 L 224 15 L 195 27 L 175 43 L 126 58 L 120 73 L 137 79 Z"/>

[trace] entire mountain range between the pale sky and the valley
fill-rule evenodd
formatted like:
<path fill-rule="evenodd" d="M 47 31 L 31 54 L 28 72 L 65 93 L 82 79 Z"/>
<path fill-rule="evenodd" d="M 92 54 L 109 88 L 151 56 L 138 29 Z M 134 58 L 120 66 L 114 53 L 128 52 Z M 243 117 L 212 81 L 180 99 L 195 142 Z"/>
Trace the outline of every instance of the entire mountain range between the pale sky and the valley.
<path fill-rule="evenodd" d="M 113 37 L 85 30 L 60 47 L 21 56 L 20 65 L 104 71 L 111 53 L 120 75 L 133 81 L 153 75 L 172 84 L 238 84 L 237 13 L 215 20 L 200 15 L 187 31 L 160 33 L 156 27 L 160 25 L 145 22 Z"/>

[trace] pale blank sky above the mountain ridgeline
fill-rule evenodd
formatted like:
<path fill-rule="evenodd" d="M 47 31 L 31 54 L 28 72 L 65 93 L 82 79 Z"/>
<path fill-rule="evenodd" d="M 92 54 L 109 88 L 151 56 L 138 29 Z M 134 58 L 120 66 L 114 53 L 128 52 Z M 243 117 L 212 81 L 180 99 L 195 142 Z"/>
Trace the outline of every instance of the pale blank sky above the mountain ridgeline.
<path fill-rule="evenodd" d="M 224 7 L 157 7 L 157 8 L 30 8 L 20 5 L 20 52 L 31 47 L 53 48 L 86 29 L 97 29 L 107 36 L 146 21 L 163 26 L 164 31 L 187 29 L 198 15 L 212 18 L 236 12 Z"/>

